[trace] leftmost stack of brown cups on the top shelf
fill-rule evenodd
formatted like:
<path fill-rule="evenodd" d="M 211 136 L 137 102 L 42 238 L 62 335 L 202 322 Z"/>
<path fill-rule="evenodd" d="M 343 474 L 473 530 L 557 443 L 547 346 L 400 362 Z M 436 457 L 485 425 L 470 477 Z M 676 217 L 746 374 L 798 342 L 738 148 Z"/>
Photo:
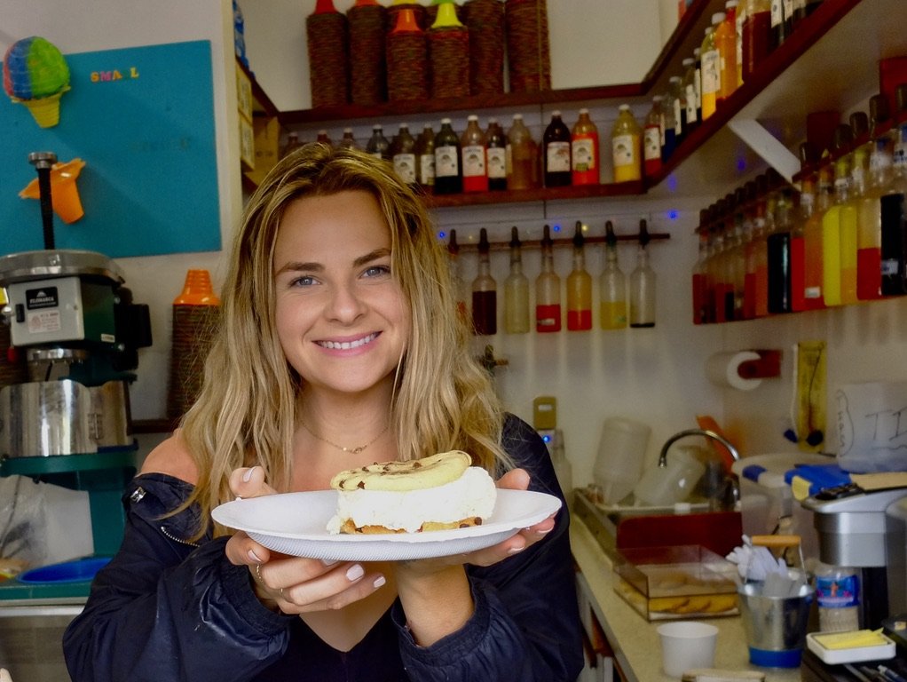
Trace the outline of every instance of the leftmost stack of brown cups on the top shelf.
<path fill-rule="evenodd" d="M 306 17 L 308 77 L 312 107 L 349 101 L 349 54 L 346 16 L 326 12 Z"/>

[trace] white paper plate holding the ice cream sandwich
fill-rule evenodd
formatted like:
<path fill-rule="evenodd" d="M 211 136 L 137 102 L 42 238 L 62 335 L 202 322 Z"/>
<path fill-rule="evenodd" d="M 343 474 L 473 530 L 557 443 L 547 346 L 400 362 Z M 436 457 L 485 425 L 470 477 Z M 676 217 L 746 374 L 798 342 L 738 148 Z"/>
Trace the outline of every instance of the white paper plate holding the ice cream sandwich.
<path fill-rule="evenodd" d="M 336 509 L 336 490 L 289 492 L 235 499 L 211 512 L 218 523 L 244 530 L 249 538 L 294 557 L 337 561 L 394 561 L 448 557 L 502 542 L 561 508 L 553 495 L 532 490 L 498 490 L 494 512 L 481 526 L 387 535 L 331 535 L 327 521 Z"/>

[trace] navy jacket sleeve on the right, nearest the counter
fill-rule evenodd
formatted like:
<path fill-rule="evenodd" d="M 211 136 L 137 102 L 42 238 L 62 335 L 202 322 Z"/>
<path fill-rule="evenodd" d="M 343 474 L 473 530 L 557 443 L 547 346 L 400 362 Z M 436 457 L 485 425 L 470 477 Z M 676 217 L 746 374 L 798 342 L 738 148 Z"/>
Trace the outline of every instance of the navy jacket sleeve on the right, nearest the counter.
<path fill-rule="evenodd" d="M 504 447 L 532 478 L 530 489 L 563 501 L 548 449 L 527 424 L 510 417 Z M 570 550 L 569 511 L 561 506 L 551 534 L 487 568 L 468 568 L 475 612 L 467 625 L 418 647 L 395 606 L 406 671 L 413 680 L 567 682 L 583 665 L 579 608 Z"/>

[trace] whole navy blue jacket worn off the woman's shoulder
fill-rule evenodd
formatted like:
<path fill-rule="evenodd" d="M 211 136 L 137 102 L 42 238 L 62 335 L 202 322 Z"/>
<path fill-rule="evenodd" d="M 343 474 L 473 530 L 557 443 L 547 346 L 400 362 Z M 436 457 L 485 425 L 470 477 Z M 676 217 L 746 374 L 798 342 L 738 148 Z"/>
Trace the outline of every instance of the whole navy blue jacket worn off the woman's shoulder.
<path fill-rule="evenodd" d="M 508 417 L 504 447 L 531 489 L 561 496 L 544 443 Z M 348 652 L 255 597 L 249 568 L 224 554 L 227 538 L 190 545 L 193 514 L 161 519 L 190 493 L 161 474 L 136 477 L 122 547 L 93 581 L 63 636 L 75 682 L 566 682 L 582 667 L 566 506 L 551 534 L 513 557 L 467 567 L 475 611 L 460 631 L 419 647 L 399 600 Z M 562 496 L 561 496 L 562 497 Z M 197 515 L 196 515 L 197 518 Z"/>

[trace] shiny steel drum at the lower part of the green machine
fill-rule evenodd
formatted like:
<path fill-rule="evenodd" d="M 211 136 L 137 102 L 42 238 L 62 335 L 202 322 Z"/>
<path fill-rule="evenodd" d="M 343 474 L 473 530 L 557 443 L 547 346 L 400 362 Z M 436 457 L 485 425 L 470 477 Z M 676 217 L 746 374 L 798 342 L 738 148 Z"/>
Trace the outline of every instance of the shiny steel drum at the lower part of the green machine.
<path fill-rule="evenodd" d="M 52 457 L 126 446 L 128 393 L 123 381 L 32 381 L 0 389 L 0 455 Z"/>

